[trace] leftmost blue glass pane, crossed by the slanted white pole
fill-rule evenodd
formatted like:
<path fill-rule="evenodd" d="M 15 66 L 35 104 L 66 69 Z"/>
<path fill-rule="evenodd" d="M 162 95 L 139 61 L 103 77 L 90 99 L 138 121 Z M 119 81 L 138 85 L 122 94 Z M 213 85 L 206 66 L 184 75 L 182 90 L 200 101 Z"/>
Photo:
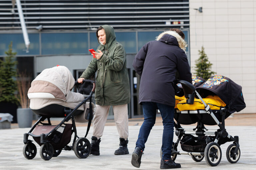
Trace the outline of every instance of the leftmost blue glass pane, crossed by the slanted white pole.
<path fill-rule="evenodd" d="M 0 34 L 0 55 L 5 55 L 12 41 L 12 50 L 17 55 L 38 55 L 39 54 L 39 34 L 28 34 L 30 41 L 29 52 L 26 52 L 26 46 L 23 34 Z"/>

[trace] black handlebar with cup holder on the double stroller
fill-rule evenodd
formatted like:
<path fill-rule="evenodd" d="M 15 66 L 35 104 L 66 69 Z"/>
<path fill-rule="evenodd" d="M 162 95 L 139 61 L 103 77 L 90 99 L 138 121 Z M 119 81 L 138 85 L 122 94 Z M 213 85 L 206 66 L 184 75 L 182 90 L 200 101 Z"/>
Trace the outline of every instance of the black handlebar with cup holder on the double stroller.
<path fill-rule="evenodd" d="M 185 80 L 176 80 L 176 82 L 182 85 L 184 95 L 187 98 L 187 104 L 193 105 L 195 98 L 194 91 L 196 90 L 195 86 Z"/>

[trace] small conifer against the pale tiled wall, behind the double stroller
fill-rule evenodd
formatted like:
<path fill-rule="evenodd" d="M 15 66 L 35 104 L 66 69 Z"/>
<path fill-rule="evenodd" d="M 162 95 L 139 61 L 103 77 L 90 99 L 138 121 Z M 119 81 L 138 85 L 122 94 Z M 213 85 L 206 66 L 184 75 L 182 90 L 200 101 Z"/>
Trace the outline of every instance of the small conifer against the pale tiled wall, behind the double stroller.
<path fill-rule="evenodd" d="M 207 80 L 209 77 L 216 73 L 211 71 L 212 63 L 210 63 L 210 61 L 208 60 L 208 57 L 204 52 L 204 47 L 202 46 L 201 51 L 198 51 L 200 56 L 196 60 L 195 75 Z"/>

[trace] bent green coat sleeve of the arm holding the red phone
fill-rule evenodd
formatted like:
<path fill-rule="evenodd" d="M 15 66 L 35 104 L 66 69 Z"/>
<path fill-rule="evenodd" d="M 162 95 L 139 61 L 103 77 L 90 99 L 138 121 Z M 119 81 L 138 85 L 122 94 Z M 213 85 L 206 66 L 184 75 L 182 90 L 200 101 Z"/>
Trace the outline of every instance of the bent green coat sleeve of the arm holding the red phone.
<path fill-rule="evenodd" d="M 126 54 L 124 47 L 122 45 L 118 45 L 115 49 L 113 59 L 103 54 L 100 58 L 100 61 L 104 63 L 108 69 L 120 71 L 124 66 L 125 59 Z"/>

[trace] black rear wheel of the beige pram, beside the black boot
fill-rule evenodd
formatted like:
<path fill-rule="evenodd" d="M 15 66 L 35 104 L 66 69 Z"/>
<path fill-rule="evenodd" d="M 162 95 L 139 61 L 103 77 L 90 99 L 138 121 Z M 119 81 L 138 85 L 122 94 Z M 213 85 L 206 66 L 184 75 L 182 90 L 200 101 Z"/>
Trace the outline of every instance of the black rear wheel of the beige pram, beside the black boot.
<path fill-rule="evenodd" d="M 74 152 L 78 158 L 87 158 L 91 152 L 91 144 L 85 137 L 78 138 L 74 143 Z"/>

